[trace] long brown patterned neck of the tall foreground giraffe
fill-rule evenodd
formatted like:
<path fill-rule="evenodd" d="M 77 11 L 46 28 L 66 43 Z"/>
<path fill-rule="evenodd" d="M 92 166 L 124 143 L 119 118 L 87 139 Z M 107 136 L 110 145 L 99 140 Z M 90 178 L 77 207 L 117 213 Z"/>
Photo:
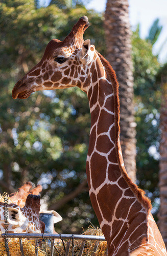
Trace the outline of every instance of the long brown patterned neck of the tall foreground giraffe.
<path fill-rule="evenodd" d="M 86 169 L 90 199 L 112 251 L 117 241 L 128 235 L 130 225 L 142 230 L 137 234 L 140 240 L 147 239 L 150 202 L 128 178 L 124 167 L 119 141 L 117 82 L 107 65 L 97 54 L 90 68 L 87 95 L 91 129 Z M 125 246 L 129 247 L 128 242 Z"/>

